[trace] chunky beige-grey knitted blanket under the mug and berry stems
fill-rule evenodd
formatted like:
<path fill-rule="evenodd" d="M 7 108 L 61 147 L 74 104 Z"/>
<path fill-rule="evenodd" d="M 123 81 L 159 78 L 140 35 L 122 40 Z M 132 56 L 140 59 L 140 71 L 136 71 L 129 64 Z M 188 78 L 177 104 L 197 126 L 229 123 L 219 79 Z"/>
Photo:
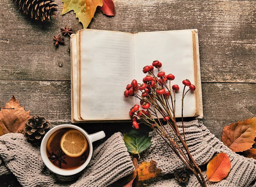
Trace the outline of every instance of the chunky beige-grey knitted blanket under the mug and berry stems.
<path fill-rule="evenodd" d="M 181 124 L 178 123 L 181 127 Z M 182 128 L 179 128 L 182 131 Z M 254 185 L 256 180 L 256 160 L 245 158 L 226 147 L 197 120 L 185 122 L 186 140 L 189 150 L 199 165 L 210 161 L 215 153 L 228 154 L 231 171 L 217 183 L 207 182 L 207 186 L 243 187 Z M 141 154 L 142 161 L 157 162 L 162 173 L 146 183 L 149 186 L 180 186 L 169 174 L 183 163 L 166 143 L 151 132 L 152 146 Z M 131 157 L 127 152 L 121 133 L 115 133 L 93 153 L 86 169 L 72 176 L 60 176 L 49 171 L 40 156 L 40 148 L 32 146 L 22 134 L 6 134 L 0 137 L 0 175 L 12 172 L 23 186 L 70 186 L 101 187 L 108 186 L 134 170 Z M 206 174 L 203 172 L 205 179 Z M 187 186 L 200 186 L 194 175 L 190 176 Z"/>

